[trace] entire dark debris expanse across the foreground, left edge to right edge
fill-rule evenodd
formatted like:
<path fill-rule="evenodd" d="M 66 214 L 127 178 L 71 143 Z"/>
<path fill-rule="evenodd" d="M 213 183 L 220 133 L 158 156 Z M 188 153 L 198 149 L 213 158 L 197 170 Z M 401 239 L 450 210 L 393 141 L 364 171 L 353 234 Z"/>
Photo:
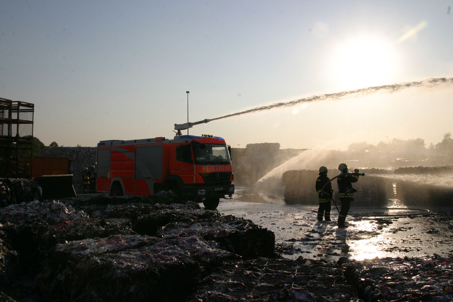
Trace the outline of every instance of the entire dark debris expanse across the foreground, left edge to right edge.
<path fill-rule="evenodd" d="M 451 301 L 453 257 L 281 258 L 272 232 L 174 196 L 0 208 L 0 301 Z"/>

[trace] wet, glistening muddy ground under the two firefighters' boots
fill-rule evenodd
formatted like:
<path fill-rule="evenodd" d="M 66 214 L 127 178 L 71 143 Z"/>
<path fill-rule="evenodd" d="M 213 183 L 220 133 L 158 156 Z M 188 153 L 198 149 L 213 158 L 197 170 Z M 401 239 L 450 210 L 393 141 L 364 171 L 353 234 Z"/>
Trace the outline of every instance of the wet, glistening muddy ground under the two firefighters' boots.
<path fill-rule="evenodd" d="M 384 210 L 351 207 L 347 228 L 317 221 L 315 205 L 221 202 L 218 210 L 250 219 L 274 232 L 277 251 L 285 258 L 299 256 L 338 261 L 385 257 L 423 257 L 453 253 L 453 212 L 447 208 Z M 395 215 L 395 216 L 392 216 Z"/>

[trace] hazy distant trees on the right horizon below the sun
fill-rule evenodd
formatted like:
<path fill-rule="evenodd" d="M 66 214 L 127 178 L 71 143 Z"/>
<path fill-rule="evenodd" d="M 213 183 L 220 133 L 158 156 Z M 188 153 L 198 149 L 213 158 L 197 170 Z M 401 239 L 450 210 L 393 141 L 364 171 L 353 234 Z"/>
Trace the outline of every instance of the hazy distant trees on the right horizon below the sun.
<path fill-rule="evenodd" d="M 409 155 L 451 155 L 453 154 L 453 138 L 451 133 L 445 133 L 442 141 L 426 147 L 425 141 L 421 138 L 416 139 L 399 139 L 394 138 L 390 142 L 380 141 L 377 145 L 367 143 L 366 141 L 354 142 L 348 146 L 348 151 L 352 152 L 393 152 Z"/>

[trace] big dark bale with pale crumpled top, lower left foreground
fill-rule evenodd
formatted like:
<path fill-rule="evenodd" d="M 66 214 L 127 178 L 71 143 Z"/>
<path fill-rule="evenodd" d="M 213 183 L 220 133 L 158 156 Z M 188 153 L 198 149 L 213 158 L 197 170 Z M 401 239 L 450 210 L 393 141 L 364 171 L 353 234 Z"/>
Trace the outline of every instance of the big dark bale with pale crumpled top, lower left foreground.
<path fill-rule="evenodd" d="M 197 236 L 113 235 L 58 244 L 37 281 L 49 300 L 181 300 L 233 256 Z"/>

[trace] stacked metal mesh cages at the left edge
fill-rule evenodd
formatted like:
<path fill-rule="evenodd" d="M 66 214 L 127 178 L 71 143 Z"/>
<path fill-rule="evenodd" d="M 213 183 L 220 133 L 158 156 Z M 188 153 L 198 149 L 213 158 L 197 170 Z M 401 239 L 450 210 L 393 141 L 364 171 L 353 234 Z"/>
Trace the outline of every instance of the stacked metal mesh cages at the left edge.
<path fill-rule="evenodd" d="M 0 98 L 0 177 L 32 174 L 35 105 Z"/>

